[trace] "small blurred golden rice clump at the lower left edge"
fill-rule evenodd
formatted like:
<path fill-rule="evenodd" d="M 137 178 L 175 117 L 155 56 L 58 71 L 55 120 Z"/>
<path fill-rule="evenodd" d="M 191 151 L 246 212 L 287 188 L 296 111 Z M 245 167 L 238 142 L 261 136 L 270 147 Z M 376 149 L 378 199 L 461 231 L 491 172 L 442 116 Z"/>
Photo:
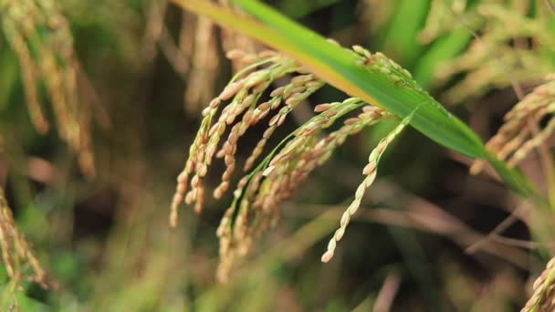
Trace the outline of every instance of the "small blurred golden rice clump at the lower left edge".
<path fill-rule="evenodd" d="M 32 270 L 31 280 L 41 286 L 47 287 L 47 273 L 42 268 L 26 242 L 23 234 L 17 229 L 12 211 L 5 200 L 4 191 L 0 188 L 0 250 L 2 262 L 5 265 L 7 276 L 20 280 L 26 275 L 24 265 L 29 265 Z"/>

